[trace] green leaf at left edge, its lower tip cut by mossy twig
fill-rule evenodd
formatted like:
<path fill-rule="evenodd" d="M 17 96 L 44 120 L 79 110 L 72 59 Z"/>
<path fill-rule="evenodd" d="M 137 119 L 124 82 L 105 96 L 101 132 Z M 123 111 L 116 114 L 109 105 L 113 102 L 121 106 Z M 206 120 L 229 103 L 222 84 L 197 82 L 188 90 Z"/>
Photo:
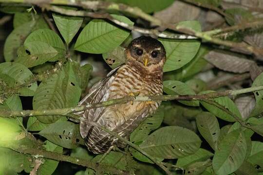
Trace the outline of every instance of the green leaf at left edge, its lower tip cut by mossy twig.
<path fill-rule="evenodd" d="M 32 75 L 33 73 L 22 64 L 13 62 L 0 64 L 0 79 L 10 87 L 23 84 Z M 37 83 L 32 83 L 28 87 L 19 88 L 17 93 L 21 96 L 33 96 L 37 87 Z"/>

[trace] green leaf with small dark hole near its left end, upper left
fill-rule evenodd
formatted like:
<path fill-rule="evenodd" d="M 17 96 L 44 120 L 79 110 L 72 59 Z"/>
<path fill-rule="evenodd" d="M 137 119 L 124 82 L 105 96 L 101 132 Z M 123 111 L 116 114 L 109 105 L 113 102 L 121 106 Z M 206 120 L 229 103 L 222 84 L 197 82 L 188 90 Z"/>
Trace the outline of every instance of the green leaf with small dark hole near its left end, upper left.
<path fill-rule="evenodd" d="M 25 65 L 27 68 L 38 66 L 49 60 L 54 61 L 58 54 L 56 49 L 41 41 L 27 42 L 18 50 L 18 58 L 15 62 Z"/>

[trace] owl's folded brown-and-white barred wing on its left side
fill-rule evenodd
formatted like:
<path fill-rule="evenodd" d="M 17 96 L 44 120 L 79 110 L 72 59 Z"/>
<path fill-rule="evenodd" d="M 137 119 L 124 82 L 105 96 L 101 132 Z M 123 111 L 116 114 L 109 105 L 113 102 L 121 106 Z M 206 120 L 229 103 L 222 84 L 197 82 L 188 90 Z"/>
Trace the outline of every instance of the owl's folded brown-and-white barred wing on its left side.
<path fill-rule="evenodd" d="M 121 65 L 122 66 L 122 65 Z M 102 101 L 106 101 L 109 97 L 108 89 L 115 79 L 116 71 L 121 67 L 117 67 L 110 71 L 107 76 L 96 83 L 91 89 L 88 95 L 86 95 L 78 105 L 88 105 L 93 103 L 98 103 Z M 94 121 L 94 114 L 101 113 L 103 107 L 94 108 L 86 110 L 82 117 L 83 119 L 80 121 L 79 130 L 82 138 L 85 138 L 88 135 L 88 132 L 92 125 L 89 124 L 89 121 Z"/>

